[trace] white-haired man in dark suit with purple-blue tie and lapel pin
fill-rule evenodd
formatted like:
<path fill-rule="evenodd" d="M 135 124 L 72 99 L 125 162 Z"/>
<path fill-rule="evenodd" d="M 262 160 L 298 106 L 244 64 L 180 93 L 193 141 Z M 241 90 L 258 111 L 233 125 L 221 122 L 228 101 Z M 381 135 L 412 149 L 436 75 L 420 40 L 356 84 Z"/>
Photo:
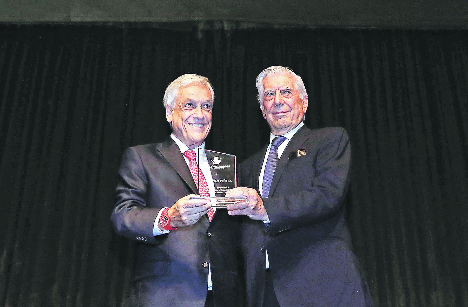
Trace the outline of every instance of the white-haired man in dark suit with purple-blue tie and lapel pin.
<path fill-rule="evenodd" d="M 372 306 L 344 219 L 346 131 L 304 125 L 307 92 L 290 69 L 269 67 L 256 85 L 270 144 L 240 165 L 241 187 L 226 194 L 248 197 L 228 206 L 229 214 L 248 217 L 242 226 L 248 306 Z"/>

